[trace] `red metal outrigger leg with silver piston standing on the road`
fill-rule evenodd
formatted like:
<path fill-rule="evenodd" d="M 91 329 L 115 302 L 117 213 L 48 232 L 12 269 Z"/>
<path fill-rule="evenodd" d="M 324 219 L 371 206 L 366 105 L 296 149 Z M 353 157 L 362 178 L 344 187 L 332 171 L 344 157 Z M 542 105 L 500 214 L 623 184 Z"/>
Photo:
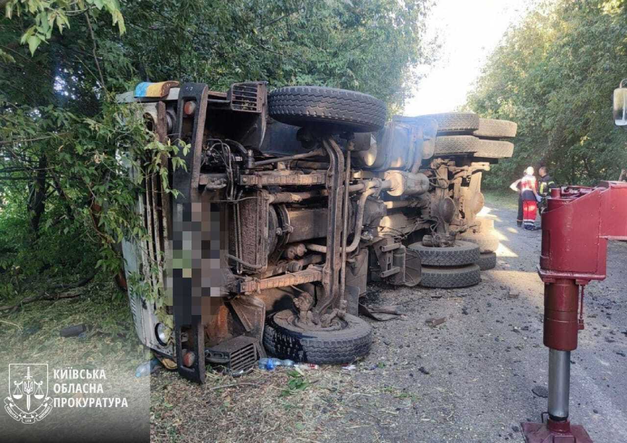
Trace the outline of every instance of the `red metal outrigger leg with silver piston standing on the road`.
<path fill-rule="evenodd" d="M 627 240 L 627 183 L 551 189 L 542 214 L 538 267 L 549 348 L 549 417 L 545 423 L 521 424 L 526 443 L 592 443 L 582 425 L 568 420 L 571 351 L 577 348 L 577 331 L 584 329 L 584 286 L 606 277 L 608 240 Z"/>

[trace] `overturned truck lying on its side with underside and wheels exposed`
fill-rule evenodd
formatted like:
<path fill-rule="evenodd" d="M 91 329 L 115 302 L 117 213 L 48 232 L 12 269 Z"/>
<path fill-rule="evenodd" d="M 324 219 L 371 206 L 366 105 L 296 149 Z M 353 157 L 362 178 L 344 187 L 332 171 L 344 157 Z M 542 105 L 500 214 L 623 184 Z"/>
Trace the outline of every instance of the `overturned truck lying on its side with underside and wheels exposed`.
<path fill-rule="evenodd" d="M 236 83 L 140 84 L 163 142 L 189 145 L 170 173 L 176 196 L 147 179 L 138 202 L 149 240 L 124 242 L 142 342 L 204 382 L 266 352 L 311 363 L 366 355 L 358 317 L 369 282 L 462 287 L 493 267 L 481 178 L 512 155 L 516 125 L 472 113 L 394 116 L 364 93 Z M 181 162 L 179 162 L 181 163 Z M 158 272 L 150 274 L 149 270 Z"/>

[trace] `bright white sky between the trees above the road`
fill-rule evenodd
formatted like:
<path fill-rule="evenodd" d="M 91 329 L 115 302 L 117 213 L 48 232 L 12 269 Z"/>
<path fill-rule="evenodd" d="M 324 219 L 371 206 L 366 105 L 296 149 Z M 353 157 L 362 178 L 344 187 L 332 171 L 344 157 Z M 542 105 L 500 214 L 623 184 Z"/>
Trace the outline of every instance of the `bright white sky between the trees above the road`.
<path fill-rule="evenodd" d="M 483 63 L 512 23 L 517 23 L 535 0 L 436 0 L 427 38 L 441 43 L 439 60 L 426 68 L 405 115 L 450 112 L 466 101 L 466 94 Z M 419 68 L 425 70 L 424 67 Z"/>

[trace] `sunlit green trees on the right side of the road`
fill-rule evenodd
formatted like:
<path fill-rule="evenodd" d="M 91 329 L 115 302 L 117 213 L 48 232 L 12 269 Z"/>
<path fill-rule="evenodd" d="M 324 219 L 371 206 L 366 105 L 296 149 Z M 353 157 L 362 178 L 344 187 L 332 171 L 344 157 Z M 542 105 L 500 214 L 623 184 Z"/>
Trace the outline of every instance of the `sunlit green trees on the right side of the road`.
<path fill-rule="evenodd" d="M 611 93 L 627 77 L 624 0 L 544 4 L 494 51 L 467 109 L 518 123 L 514 157 L 484 179 L 503 188 L 526 166 L 547 166 L 558 183 L 617 179 L 627 132 L 613 126 Z"/>

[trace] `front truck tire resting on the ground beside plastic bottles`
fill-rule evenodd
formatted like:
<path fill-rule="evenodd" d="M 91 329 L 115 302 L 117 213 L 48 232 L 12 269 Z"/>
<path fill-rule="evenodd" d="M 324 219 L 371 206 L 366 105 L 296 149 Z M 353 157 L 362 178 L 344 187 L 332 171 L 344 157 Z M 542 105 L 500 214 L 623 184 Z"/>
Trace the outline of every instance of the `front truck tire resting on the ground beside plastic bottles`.
<path fill-rule="evenodd" d="M 372 328 L 361 318 L 346 314 L 343 329 L 306 331 L 290 323 L 290 309 L 271 314 L 266 319 L 263 345 L 278 358 L 335 365 L 350 363 L 369 353 Z"/>

